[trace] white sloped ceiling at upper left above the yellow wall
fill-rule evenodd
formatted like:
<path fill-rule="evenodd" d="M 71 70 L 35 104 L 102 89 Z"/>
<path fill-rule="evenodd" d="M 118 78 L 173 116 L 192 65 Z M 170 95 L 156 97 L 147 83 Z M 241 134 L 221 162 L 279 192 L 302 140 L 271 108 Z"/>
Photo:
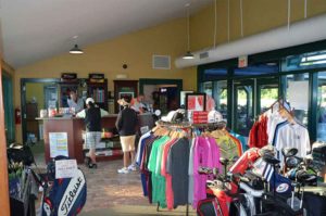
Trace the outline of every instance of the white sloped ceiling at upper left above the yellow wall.
<path fill-rule="evenodd" d="M 20 67 L 183 17 L 189 2 L 195 12 L 212 0 L 0 0 L 4 60 Z"/>

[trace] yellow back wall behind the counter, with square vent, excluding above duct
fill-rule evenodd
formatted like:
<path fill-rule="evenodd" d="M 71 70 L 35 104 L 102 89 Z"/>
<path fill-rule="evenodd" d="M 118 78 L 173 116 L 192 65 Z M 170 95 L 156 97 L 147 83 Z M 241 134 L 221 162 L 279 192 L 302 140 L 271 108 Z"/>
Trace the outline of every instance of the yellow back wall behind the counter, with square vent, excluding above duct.
<path fill-rule="evenodd" d="M 117 74 L 128 79 L 175 78 L 184 80 L 184 89 L 197 88 L 196 67 L 177 69 L 174 60 L 186 51 L 186 18 L 178 18 L 162 25 L 135 31 L 84 48 L 83 55 L 64 53 L 16 69 L 15 105 L 21 105 L 21 78 L 59 78 L 63 72 L 78 73 L 78 78 L 88 77 L 91 72 L 104 73 L 109 90 Z M 171 69 L 152 69 L 152 54 L 171 55 Z M 126 63 L 127 69 L 122 65 Z M 21 127 L 16 139 L 22 140 Z"/>

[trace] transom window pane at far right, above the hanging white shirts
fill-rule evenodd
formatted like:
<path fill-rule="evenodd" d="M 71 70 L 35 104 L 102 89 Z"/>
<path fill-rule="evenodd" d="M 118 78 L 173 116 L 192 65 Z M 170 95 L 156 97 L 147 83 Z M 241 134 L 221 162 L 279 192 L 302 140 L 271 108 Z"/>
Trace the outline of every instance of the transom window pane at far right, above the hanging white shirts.
<path fill-rule="evenodd" d="M 326 50 L 290 55 L 283 59 L 283 71 L 326 67 Z"/>

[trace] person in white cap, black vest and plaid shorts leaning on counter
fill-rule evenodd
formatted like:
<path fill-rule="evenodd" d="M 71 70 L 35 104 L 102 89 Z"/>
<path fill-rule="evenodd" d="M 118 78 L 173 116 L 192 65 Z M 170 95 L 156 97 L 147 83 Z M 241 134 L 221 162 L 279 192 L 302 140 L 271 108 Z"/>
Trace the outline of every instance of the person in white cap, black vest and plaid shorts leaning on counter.
<path fill-rule="evenodd" d="M 96 147 L 101 141 L 101 117 L 109 113 L 95 104 L 92 98 L 86 99 L 86 109 L 76 114 L 77 117 L 85 118 L 86 138 L 85 143 L 89 149 L 89 168 L 97 168 Z"/>

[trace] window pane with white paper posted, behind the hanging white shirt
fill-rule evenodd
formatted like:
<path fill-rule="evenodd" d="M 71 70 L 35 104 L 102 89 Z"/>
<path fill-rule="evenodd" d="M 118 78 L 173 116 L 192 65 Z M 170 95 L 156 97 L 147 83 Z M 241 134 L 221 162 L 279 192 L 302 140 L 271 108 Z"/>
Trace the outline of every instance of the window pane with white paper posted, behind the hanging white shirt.
<path fill-rule="evenodd" d="M 309 74 L 287 75 L 286 99 L 293 110 L 294 117 L 308 126 Z"/>

